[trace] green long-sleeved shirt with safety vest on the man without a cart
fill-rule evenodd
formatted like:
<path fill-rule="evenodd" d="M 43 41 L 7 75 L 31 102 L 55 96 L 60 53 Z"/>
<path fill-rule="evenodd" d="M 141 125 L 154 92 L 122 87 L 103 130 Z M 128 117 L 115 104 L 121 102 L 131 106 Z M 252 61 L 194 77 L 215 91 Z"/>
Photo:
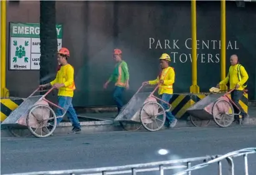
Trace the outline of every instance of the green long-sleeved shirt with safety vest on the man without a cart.
<path fill-rule="evenodd" d="M 116 63 L 115 69 L 108 81 L 115 82 L 115 86 L 125 87 L 128 79 L 129 70 L 127 63 L 125 61 L 121 61 L 120 63 Z"/>

